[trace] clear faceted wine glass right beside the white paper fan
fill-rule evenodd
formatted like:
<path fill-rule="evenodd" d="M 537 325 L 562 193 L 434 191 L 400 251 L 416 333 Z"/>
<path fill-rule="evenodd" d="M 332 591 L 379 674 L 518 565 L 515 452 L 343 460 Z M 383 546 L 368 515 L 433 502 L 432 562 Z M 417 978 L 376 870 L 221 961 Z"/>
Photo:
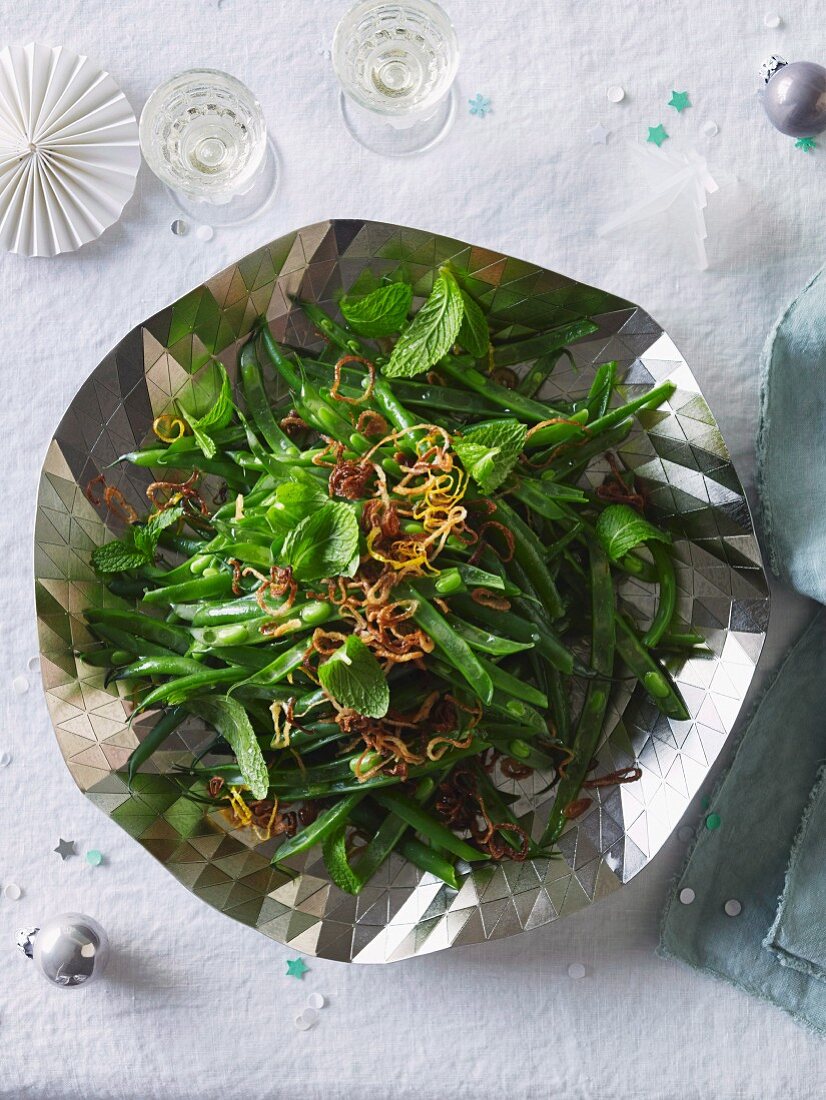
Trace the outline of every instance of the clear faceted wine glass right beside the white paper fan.
<path fill-rule="evenodd" d="M 275 194 L 277 162 L 261 105 L 219 69 L 187 69 L 159 85 L 141 112 L 141 151 L 178 207 L 197 221 L 233 226 Z"/>

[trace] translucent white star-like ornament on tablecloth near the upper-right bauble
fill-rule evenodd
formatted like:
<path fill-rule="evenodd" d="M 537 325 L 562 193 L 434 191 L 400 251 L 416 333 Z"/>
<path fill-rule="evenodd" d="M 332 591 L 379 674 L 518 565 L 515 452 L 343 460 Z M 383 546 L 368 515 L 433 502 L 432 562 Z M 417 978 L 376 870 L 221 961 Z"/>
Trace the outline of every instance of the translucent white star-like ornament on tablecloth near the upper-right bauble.
<path fill-rule="evenodd" d="M 628 209 L 609 218 L 597 230 L 606 237 L 617 229 L 668 216 L 671 227 L 687 241 L 697 267 L 708 266 L 705 208 L 719 186 L 696 150 L 674 152 L 651 145 L 630 145 L 646 176 L 646 193 Z"/>

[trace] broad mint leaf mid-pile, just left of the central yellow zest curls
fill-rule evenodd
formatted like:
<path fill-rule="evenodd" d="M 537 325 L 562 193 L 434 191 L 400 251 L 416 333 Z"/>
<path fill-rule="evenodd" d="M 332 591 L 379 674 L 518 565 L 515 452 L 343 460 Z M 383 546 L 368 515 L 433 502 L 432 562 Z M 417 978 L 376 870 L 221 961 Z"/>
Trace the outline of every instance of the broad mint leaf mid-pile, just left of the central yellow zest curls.
<path fill-rule="evenodd" d="M 331 501 L 293 528 L 282 547 L 285 565 L 298 581 L 352 576 L 357 568 L 359 521 L 349 504 Z"/>

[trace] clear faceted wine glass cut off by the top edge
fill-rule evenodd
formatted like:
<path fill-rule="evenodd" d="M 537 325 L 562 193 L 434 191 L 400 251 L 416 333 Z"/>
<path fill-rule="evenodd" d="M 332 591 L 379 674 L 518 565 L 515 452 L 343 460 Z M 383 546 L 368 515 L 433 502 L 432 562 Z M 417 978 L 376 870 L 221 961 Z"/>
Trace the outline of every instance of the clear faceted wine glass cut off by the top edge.
<path fill-rule="evenodd" d="M 433 0 L 359 0 L 335 28 L 332 62 L 344 123 L 366 148 L 407 156 L 449 130 L 459 43 Z"/>

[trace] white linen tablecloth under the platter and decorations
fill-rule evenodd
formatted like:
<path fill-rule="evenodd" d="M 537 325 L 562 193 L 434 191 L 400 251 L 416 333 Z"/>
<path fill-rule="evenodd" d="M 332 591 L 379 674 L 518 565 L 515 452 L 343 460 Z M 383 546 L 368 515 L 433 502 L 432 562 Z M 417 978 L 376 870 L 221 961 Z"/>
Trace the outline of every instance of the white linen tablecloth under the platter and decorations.
<path fill-rule="evenodd" d="M 751 1100 L 822 1094 L 824 1047 L 778 1011 L 669 963 L 653 949 L 674 838 L 626 889 L 515 939 L 396 964 L 309 960 L 285 978 L 278 944 L 208 909 L 75 788 L 35 674 L 31 581 L 37 476 L 64 407 L 143 318 L 265 241 L 318 219 L 368 217 L 432 229 L 557 267 L 639 301 L 684 352 L 742 479 L 753 481 L 757 363 L 774 316 L 821 265 L 826 152 L 802 153 L 755 98 L 763 57 L 826 61 L 821 4 L 795 0 L 762 25 L 768 0 L 450 0 L 462 42 L 454 131 L 409 162 L 352 143 L 323 56 L 341 0 L 64 0 L 2 3 L 0 37 L 64 43 L 109 68 L 139 109 L 164 77 L 229 69 L 258 94 L 282 156 L 275 206 L 210 243 L 169 232 L 175 217 L 143 168 L 121 222 L 54 261 L 0 256 L 3 473 L 0 582 L 0 1094 L 177 1100 L 300 1097 L 453 1100 Z M 613 107 L 605 88 L 621 82 Z M 665 107 L 687 88 L 694 107 Z M 466 98 L 493 99 L 484 120 Z M 720 132 L 698 136 L 705 119 Z M 614 130 L 607 146 L 585 130 Z M 712 200 L 706 273 L 653 240 L 599 240 L 632 198 L 624 141 L 663 122 L 708 154 L 730 186 Z M 806 424 L 805 399 L 801 426 Z M 764 651 L 777 662 L 806 613 L 778 593 Z M 31 690 L 15 695 L 13 676 Z M 782 781 L 782 777 L 779 778 Z M 768 823 L 767 827 L 770 827 Z M 100 848 L 102 867 L 62 864 L 58 836 Z M 96 915 L 113 944 L 107 981 L 43 982 L 14 930 L 56 912 Z M 569 963 L 588 976 L 573 981 Z M 293 1020 L 307 994 L 318 1026 Z"/>

